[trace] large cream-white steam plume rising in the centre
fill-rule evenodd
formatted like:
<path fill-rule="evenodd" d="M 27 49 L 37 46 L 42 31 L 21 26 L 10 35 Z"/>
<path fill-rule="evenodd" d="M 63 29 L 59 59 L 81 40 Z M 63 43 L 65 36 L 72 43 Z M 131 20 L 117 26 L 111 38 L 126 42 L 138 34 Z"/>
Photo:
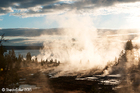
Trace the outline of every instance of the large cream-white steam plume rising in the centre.
<path fill-rule="evenodd" d="M 103 68 L 109 61 L 113 62 L 124 47 L 122 38 L 108 37 L 106 33 L 99 36 L 90 17 L 65 15 L 50 19 L 67 29 L 61 31 L 61 39 L 46 40 L 38 58 L 67 63 L 63 67 L 65 71 L 87 70 L 97 66 Z"/>

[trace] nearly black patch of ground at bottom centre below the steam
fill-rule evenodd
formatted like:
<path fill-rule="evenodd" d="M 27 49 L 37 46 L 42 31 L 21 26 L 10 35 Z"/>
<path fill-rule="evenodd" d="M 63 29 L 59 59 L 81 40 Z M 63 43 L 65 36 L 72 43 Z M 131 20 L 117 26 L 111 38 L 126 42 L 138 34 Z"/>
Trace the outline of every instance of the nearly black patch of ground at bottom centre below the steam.
<path fill-rule="evenodd" d="M 50 78 L 49 84 L 52 89 L 66 91 L 83 91 L 86 93 L 115 93 L 112 85 L 99 84 L 99 81 L 75 80 L 75 76 L 63 76 Z"/>

